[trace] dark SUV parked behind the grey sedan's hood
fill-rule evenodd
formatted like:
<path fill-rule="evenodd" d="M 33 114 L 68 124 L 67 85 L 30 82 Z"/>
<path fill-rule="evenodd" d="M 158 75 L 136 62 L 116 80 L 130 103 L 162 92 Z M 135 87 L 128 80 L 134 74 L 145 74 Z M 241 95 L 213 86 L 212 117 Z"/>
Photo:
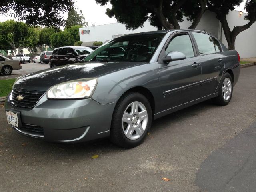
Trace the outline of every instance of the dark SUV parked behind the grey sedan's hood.
<path fill-rule="evenodd" d="M 56 48 L 53 50 L 52 56 L 50 57 L 50 67 L 79 63 L 91 52 L 93 52 L 91 48 L 81 46 Z"/>

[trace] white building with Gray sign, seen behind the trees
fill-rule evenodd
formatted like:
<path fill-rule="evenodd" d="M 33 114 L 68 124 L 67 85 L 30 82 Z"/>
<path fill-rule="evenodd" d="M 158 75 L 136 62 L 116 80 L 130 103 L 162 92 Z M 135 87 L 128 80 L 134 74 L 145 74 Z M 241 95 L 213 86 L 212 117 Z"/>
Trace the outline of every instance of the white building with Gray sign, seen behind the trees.
<path fill-rule="evenodd" d="M 238 11 L 230 12 L 226 18 L 228 20 L 228 24 L 230 26 L 230 30 L 233 30 L 234 26 L 241 26 L 248 22 L 248 20 L 244 20 L 244 16 L 246 14 L 243 13 L 240 15 Z M 188 28 L 192 22 L 189 22 L 184 18 L 184 21 L 180 23 L 180 28 Z M 218 38 L 224 45 L 228 47 L 226 38 L 224 36 L 224 32 L 222 30 L 222 26 L 220 22 L 216 19 L 216 14 L 210 11 L 206 11 L 202 16 L 198 26 L 196 27 L 198 30 L 203 30 L 213 34 L 216 38 Z M 118 36 L 122 36 L 125 34 L 138 33 L 138 32 L 146 32 L 146 31 L 154 31 L 157 28 L 150 25 L 147 21 L 144 23 L 143 28 L 138 28 L 136 30 L 127 30 L 124 24 L 121 23 L 111 23 L 105 25 L 98 26 L 90 26 L 80 28 L 80 41 L 82 42 L 94 42 L 94 41 L 102 41 L 106 42 Z M 241 58 L 249 58 L 256 57 L 256 23 L 252 24 L 252 26 L 241 32 L 236 37 L 235 47 L 239 52 Z"/>

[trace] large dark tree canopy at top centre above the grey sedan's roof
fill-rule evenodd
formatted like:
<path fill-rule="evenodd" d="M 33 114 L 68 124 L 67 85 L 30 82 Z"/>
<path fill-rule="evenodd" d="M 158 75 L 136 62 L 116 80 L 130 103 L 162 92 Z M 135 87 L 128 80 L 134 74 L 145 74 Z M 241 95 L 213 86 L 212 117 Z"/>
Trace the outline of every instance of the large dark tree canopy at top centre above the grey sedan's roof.
<path fill-rule="evenodd" d="M 128 29 L 142 27 L 146 20 L 150 20 L 152 26 L 158 29 L 179 29 L 178 22 L 183 21 L 184 14 L 190 14 L 190 6 L 186 6 L 188 0 L 96 0 L 102 6 L 108 2 L 112 4 L 111 9 L 106 10 L 109 17 L 115 17 L 118 22 L 126 25 Z M 204 10 L 206 0 L 192 0 L 197 9 L 193 12 L 193 24 L 190 28 L 196 28 Z"/>

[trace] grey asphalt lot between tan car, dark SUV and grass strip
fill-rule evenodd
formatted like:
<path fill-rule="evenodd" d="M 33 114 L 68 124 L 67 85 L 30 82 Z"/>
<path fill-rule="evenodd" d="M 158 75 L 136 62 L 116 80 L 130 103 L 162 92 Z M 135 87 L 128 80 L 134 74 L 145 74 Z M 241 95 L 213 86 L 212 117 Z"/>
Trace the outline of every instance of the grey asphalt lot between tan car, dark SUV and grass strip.
<path fill-rule="evenodd" d="M 36 71 L 50 68 L 49 64 L 45 64 L 45 63 L 43 63 L 43 64 L 41 64 L 41 63 L 25 63 L 25 64 L 21 64 L 21 66 L 22 66 L 22 69 L 12 71 L 11 75 L 0 74 L 0 80 L 1 79 L 17 78 L 17 77 L 25 75 L 25 74 L 29 74 L 29 73 L 33 73 Z"/>

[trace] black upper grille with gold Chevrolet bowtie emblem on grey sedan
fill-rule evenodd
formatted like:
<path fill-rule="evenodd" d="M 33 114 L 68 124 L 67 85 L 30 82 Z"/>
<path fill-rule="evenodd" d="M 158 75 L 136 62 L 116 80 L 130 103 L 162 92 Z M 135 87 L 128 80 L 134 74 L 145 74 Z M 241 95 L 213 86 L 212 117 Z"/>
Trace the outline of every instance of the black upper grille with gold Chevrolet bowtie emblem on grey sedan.
<path fill-rule="evenodd" d="M 19 107 L 33 108 L 45 92 L 14 88 L 10 102 Z M 18 96 L 22 98 L 18 100 Z"/>

